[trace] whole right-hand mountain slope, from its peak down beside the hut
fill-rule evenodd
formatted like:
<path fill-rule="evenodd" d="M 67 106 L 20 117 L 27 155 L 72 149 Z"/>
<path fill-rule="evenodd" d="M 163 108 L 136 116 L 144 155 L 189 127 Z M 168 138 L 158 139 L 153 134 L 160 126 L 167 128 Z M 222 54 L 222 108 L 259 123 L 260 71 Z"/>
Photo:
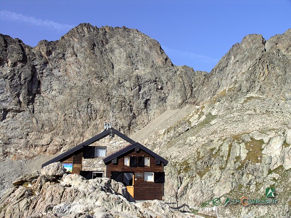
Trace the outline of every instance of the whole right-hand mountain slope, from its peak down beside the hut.
<path fill-rule="evenodd" d="M 277 204 L 220 205 L 220 215 L 290 216 L 290 42 L 290 30 L 268 41 L 246 36 L 193 96 L 200 107 L 143 141 L 171 160 L 167 199 L 213 206 L 218 197 L 264 199 L 274 187 Z"/>

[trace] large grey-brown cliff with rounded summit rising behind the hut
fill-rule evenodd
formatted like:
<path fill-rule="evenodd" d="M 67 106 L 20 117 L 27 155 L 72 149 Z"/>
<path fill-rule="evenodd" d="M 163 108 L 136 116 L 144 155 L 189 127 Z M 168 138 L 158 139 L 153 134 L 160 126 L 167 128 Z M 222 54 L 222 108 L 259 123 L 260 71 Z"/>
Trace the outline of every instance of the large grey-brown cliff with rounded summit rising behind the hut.
<path fill-rule="evenodd" d="M 0 155 L 55 154 L 113 116 L 128 134 L 187 102 L 206 73 L 173 66 L 135 29 L 80 24 L 30 47 L 0 35 Z M 113 107 L 113 113 L 112 111 Z"/>

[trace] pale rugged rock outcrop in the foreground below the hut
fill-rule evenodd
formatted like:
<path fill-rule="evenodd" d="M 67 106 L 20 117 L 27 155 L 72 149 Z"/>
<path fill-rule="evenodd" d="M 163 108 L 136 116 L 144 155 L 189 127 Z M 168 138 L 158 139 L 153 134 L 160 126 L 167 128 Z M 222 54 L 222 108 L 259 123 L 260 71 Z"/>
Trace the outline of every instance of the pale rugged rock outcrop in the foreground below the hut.
<path fill-rule="evenodd" d="M 159 201 L 134 203 L 122 183 L 108 178 L 85 180 L 69 174 L 52 181 L 40 175 L 21 185 L 0 198 L 0 217 L 198 217 Z"/>

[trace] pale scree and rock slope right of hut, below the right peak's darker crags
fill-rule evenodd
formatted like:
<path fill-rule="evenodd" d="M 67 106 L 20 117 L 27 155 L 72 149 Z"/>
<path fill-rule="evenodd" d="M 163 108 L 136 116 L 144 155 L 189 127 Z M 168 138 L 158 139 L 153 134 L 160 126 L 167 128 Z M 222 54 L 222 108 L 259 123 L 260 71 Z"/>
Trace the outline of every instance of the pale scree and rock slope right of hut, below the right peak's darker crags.
<path fill-rule="evenodd" d="M 225 217 L 289 217 L 290 104 L 253 94 L 217 113 L 221 103 L 212 99 L 143 141 L 170 160 L 165 199 L 202 209 L 220 198 L 219 214 Z M 223 205 L 227 197 L 264 199 L 270 187 L 277 204 Z M 265 212 L 270 210 L 276 213 Z"/>

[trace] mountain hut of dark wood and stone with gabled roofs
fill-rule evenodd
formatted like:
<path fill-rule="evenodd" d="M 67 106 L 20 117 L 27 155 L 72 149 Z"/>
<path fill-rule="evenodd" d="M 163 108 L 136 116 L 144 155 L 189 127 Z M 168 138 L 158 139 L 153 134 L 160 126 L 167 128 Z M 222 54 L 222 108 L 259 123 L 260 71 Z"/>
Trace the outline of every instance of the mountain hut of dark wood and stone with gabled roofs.
<path fill-rule="evenodd" d="M 136 200 L 164 199 L 168 161 L 114 128 L 43 163 L 60 161 L 67 171 L 86 179 L 108 177 L 122 182 Z"/>

